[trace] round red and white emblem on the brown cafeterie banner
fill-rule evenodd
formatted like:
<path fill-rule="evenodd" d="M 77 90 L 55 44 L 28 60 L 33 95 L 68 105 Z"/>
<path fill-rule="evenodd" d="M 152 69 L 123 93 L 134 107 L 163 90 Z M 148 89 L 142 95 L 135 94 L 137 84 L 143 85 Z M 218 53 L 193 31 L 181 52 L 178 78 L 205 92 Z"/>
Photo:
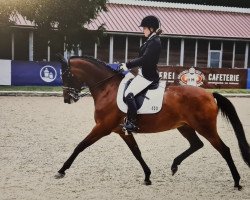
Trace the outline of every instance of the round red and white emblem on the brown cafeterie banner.
<path fill-rule="evenodd" d="M 195 68 L 191 67 L 190 69 L 181 72 L 178 75 L 178 79 L 180 80 L 181 85 L 201 86 L 205 80 L 205 76 L 201 71 L 195 70 Z"/>

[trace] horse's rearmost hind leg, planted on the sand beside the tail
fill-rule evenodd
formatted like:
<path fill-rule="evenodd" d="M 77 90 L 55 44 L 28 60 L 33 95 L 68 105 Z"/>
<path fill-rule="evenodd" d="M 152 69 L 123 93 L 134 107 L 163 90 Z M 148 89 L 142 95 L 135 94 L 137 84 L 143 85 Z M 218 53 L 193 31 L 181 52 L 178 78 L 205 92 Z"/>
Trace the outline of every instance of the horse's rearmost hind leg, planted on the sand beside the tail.
<path fill-rule="evenodd" d="M 213 137 L 212 137 L 213 136 Z M 227 165 L 231 171 L 231 174 L 234 179 L 234 187 L 238 188 L 238 190 L 242 189 L 242 186 L 240 186 L 240 175 L 239 172 L 234 164 L 234 161 L 232 159 L 230 149 L 227 147 L 224 142 L 220 139 L 217 132 L 215 134 L 211 135 L 204 135 L 204 137 L 213 145 L 213 147 L 219 151 L 219 153 L 222 155 L 222 157 L 226 160 Z"/>

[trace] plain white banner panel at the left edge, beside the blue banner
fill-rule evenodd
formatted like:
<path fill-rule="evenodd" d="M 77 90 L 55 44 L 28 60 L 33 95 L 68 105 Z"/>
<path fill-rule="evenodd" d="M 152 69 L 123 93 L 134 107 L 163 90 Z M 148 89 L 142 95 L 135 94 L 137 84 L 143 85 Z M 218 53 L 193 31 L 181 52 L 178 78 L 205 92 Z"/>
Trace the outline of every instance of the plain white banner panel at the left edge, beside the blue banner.
<path fill-rule="evenodd" d="M 0 60 L 0 85 L 11 85 L 11 60 Z"/>

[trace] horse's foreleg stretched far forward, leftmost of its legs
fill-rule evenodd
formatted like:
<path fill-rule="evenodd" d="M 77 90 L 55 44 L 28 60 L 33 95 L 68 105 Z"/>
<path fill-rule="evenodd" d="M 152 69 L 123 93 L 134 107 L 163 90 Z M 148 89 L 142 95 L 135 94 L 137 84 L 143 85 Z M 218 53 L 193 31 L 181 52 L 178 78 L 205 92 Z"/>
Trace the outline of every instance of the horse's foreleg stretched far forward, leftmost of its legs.
<path fill-rule="evenodd" d="M 95 126 L 93 130 L 89 133 L 89 135 L 77 145 L 74 152 L 64 163 L 63 167 L 58 171 L 58 174 L 55 175 L 55 178 L 63 178 L 65 176 L 65 171 L 70 168 L 70 166 L 72 165 L 72 163 L 74 162 L 79 153 L 81 153 L 84 149 L 94 144 L 103 136 L 106 136 L 110 133 L 104 130 L 105 129 L 102 128 L 101 126 Z"/>

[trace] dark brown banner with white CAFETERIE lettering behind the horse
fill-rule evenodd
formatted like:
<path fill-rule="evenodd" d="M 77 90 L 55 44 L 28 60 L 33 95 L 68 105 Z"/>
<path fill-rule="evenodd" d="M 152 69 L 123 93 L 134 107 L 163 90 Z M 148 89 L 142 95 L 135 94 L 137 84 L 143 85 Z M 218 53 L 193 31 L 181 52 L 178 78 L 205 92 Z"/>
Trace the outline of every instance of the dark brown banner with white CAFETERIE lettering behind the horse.
<path fill-rule="evenodd" d="M 173 85 L 235 89 L 246 89 L 247 87 L 246 69 L 161 66 L 159 67 L 159 74 L 163 80 L 167 80 L 167 83 Z"/>

